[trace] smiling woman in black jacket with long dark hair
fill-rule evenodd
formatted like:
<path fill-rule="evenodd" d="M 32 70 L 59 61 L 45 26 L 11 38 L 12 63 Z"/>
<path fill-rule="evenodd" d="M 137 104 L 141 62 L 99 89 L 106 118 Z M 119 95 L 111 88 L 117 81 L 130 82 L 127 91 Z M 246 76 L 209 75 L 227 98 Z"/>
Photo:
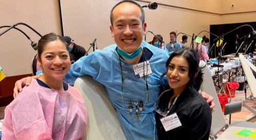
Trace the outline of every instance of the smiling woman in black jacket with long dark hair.
<path fill-rule="evenodd" d="M 175 51 L 167 60 L 166 68 L 170 89 L 158 97 L 158 138 L 208 140 L 211 111 L 208 103 L 198 93 L 203 73 L 199 68 L 197 52 L 188 48 Z M 169 124 L 175 127 L 170 128 Z"/>

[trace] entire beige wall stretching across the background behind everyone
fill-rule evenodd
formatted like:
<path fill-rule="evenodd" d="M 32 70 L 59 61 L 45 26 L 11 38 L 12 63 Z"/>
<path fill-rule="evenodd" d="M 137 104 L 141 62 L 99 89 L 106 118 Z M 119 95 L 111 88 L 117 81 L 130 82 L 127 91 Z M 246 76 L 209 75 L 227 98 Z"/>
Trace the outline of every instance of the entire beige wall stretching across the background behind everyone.
<path fill-rule="evenodd" d="M 118 0 L 61 0 L 60 2 L 64 35 L 71 36 L 75 43 L 86 50 L 89 49 L 89 43 L 94 38 L 97 38 L 98 49 L 114 43 L 109 29 L 109 14 L 111 8 L 119 2 Z M 147 5 L 146 2 L 138 3 Z M 256 2 L 249 0 L 158 0 L 155 2 L 176 6 L 175 8 L 159 5 L 157 10 L 144 9 L 147 31 L 161 34 L 165 42 L 169 41 L 170 31 L 192 35 L 202 30 L 209 31 L 210 24 L 250 22 L 255 21 L 253 17 L 256 17 L 256 12 L 221 15 L 255 10 Z M 0 0 L 0 3 L 0 26 L 24 22 L 42 35 L 50 32 L 60 33 L 57 0 Z M 231 7 L 231 4 L 234 4 L 234 7 Z M 39 36 L 27 27 L 23 25 L 17 27 L 27 33 L 32 40 L 38 41 Z M 0 32 L 2 31 L 4 29 L 0 29 Z M 181 36 L 178 36 L 177 40 L 180 40 Z M 147 34 L 146 37 L 146 41 L 150 41 L 153 35 Z M 36 51 L 32 49 L 24 35 L 12 29 L 0 37 L 0 48 L 0 66 L 3 67 L 7 76 L 31 73 L 30 63 Z"/>

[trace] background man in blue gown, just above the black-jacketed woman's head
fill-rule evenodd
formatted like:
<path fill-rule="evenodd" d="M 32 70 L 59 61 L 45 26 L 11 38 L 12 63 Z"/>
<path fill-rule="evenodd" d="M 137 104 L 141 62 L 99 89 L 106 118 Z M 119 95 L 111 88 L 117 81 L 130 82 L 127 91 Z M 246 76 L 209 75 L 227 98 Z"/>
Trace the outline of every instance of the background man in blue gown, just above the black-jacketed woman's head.
<path fill-rule="evenodd" d="M 170 32 L 170 42 L 165 45 L 169 51 L 169 55 L 172 54 L 175 50 L 181 49 L 181 43 L 176 41 L 176 33 Z"/>

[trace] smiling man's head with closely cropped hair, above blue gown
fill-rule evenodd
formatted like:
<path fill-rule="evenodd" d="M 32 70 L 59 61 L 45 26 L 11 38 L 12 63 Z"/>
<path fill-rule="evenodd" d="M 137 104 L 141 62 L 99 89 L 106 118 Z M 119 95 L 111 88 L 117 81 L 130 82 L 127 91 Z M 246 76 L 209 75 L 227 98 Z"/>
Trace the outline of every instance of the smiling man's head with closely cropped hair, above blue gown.
<path fill-rule="evenodd" d="M 118 47 L 132 53 L 140 46 L 146 31 L 146 23 L 142 23 L 141 11 L 132 3 L 122 3 L 113 10 L 111 35 Z"/>

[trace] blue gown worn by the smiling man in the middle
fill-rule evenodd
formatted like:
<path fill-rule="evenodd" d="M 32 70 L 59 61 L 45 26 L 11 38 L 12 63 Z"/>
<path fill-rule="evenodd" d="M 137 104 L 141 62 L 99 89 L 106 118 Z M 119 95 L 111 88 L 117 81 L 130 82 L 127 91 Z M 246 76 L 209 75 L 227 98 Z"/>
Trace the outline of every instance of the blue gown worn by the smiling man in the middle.
<path fill-rule="evenodd" d="M 149 60 L 152 73 L 145 78 L 136 78 L 133 64 L 119 59 L 117 45 L 113 44 L 76 61 L 66 75 L 65 81 L 74 85 L 78 76 L 91 75 L 94 80 L 105 86 L 127 139 L 157 139 L 154 104 L 160 92 L 160 77 L 166 72 L 168 53 L 144 41 L 141 46 L 152 52 Z M 167 85 L 166 81 L 162 84 Z M 139 111 L 137 119 L 135 103 L 140 101 L 143 101 L 144 107 Z M 133 105 L 132 113 L 129 111 L 130 102 Z"/>

